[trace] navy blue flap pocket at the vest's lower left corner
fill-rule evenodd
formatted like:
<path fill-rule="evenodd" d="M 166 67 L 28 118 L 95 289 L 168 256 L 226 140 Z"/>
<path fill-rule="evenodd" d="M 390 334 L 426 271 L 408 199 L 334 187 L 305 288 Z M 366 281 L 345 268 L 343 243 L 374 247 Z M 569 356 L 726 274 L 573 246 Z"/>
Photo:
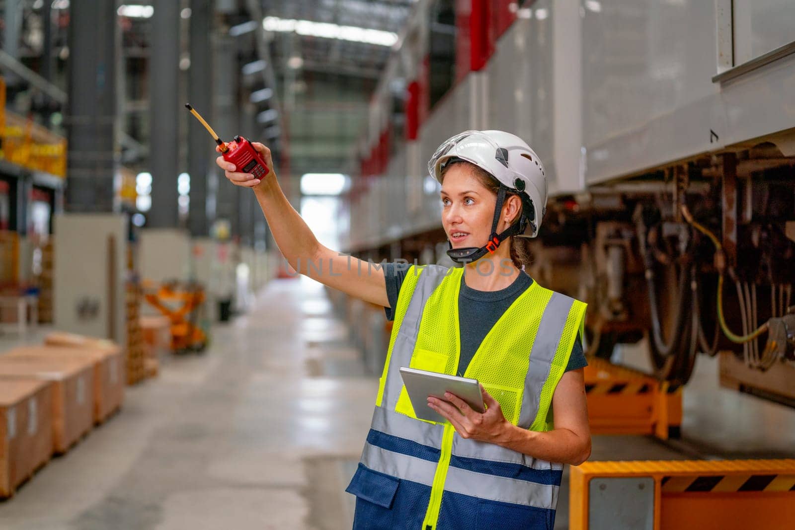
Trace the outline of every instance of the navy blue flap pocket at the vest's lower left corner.
<path fill-rule="evenodd" d="M 393 528 L 392 503 L 399 484 L 399 478 L 370 470 L 360 463 L 345 489 L 356 496 L 353 528 Z"/>

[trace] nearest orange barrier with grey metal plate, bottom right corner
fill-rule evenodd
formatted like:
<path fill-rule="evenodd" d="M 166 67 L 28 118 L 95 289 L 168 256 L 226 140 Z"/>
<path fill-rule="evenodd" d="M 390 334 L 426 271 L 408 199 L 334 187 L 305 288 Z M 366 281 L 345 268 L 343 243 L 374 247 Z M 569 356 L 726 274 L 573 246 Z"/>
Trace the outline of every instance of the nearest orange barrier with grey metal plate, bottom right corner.
<path fill-rule="evenodd" d="M 795 460 L 585 462 L 571 468 L 571 530 L 789 530 Z"/>

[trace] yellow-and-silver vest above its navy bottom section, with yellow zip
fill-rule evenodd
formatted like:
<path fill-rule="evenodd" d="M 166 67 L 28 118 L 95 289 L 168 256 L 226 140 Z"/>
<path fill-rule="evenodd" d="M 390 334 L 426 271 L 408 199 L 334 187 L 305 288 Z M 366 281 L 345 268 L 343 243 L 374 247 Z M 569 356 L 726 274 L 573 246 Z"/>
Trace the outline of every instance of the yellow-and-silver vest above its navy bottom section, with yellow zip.
<path fill-rule="evenodd" d="M 362 455 L 363 465 L 371 470 L 431 486 L 422 530 L 436 527 L 444 491 L 555 509 L 563 470 L 562 464 L 462 439 L 452 435 L 449 424 L 414 416 L 399 368 L 455 371 L 462 273 L 436 265 L 407 272 Z M 533 282 L 483 339 L 465 375 L 483 382 L 512 423 L 538 431 L 553 428 L 548 419 L 552 394 L 581 330 L 584 310 L 582 302 Z"/>

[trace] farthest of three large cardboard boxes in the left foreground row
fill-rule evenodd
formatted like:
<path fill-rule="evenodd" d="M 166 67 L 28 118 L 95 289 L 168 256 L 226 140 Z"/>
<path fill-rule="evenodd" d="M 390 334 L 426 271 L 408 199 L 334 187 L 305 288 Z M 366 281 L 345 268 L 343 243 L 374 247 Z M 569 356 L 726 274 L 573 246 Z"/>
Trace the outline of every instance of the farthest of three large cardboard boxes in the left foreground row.
<path fill-rule="evenodd" d="M 6 355 L 14 358 L 54 358 L 87 361 L 94 366 L 94 422 L 101 424 L 124 401 L 126 377 L 124 361 L 118 348 L 89 346 L 21 346 Z"/>

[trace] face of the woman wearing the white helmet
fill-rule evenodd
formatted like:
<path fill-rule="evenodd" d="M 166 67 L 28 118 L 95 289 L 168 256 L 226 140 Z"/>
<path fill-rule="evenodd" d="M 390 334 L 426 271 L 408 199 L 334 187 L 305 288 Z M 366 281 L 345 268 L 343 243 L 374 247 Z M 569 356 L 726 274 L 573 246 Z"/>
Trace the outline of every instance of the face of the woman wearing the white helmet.
<path fill-rule="evenodd" d="M 497 195 L 485 188 L 466 164 L 444 172 L 442 225 L 452 248 L 480 247 L 488 242 Z"/>

